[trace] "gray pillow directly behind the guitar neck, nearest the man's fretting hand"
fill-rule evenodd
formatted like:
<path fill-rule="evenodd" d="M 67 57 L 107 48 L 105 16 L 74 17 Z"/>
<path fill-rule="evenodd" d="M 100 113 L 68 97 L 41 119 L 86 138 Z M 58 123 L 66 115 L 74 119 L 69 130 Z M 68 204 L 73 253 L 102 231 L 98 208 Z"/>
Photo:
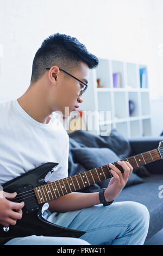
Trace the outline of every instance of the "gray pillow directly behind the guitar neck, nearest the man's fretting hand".
<path fill-rule="evenodd" d="M 120 157 L 118 157 L 111 149 L 108 148 L 72 148 L 71 151 L 73 153 L 74 160 L 82 164 L 86 170 L 101 167 L 105 164 L 120 160 Z M 109 181 L 110 179 L 107 179 L 98 182 L 97 184 L 100 187 L 107 187 Z M 139 184 L 141 182 L 143 182 L 143 180 L 136 174 L 132 173 L 126 187 Z"/>

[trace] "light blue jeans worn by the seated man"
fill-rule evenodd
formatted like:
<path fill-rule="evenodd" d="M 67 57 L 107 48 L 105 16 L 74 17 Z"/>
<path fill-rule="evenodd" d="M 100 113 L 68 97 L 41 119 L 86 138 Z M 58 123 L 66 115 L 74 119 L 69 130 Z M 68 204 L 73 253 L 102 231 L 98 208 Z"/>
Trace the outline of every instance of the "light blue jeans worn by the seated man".
<path fill-rule="evenodd" d="M 48 221 L 67 228 L 86 231 L 73 237 L 28 236 L 11 239 L 5 245 L 143 245 L 149 227 L 149 212 L 136 202 L 94 205 L 77 211 L 46 211 Z"/>

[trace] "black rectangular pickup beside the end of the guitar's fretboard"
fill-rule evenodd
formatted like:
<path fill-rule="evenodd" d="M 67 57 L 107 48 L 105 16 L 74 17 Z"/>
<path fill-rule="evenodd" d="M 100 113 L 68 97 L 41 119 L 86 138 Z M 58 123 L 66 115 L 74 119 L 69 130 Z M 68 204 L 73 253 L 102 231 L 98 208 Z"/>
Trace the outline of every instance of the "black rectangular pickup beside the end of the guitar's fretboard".
<path fill-rule="evenodd" d="M 34 212 L 39 209 L 39 204 L 36 201 L 35 193 L 31 185 L 20 187 L 18 191 L 21 193 L 27 214 L 28 212 Z"/>

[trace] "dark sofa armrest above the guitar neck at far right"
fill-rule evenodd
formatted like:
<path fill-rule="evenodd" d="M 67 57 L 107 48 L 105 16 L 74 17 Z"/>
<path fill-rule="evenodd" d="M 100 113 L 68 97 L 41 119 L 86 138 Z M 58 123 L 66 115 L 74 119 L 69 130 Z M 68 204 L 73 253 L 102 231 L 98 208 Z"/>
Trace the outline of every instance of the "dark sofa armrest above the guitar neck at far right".
<path fill-rule="evenodd" d="M 129 138 L 129 143 L 133 155 L 137 155 L 140 153 L 144 153 L 148 150 L 158 148 L 160 141 L 163 141 L 163 136 Z"/>

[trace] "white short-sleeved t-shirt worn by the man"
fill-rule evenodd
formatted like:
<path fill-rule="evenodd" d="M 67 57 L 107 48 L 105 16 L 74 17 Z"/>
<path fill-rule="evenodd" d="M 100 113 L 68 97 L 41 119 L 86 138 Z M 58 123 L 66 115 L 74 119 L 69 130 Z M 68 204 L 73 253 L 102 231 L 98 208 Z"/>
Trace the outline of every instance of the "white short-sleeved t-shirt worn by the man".
<path fill-rule="evenodd" d="M 48 124 L 30 117 L 16 99 L 0 103 L 0 185 L 47 162 L 57 162 L 45 181 L 68 175 L 69 137 L 53 112 Z"/>

